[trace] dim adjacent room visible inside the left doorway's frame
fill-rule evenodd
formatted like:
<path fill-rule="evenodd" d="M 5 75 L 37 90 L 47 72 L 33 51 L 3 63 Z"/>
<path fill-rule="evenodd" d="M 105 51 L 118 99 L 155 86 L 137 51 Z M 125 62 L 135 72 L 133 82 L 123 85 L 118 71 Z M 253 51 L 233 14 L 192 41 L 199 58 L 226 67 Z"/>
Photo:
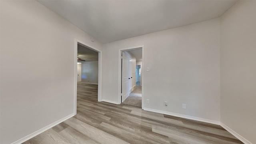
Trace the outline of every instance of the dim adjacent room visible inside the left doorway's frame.
<path fill-rule="evenodd" d="M 77 106 L 98 101 L 98 52 L 77 46 Z"/>

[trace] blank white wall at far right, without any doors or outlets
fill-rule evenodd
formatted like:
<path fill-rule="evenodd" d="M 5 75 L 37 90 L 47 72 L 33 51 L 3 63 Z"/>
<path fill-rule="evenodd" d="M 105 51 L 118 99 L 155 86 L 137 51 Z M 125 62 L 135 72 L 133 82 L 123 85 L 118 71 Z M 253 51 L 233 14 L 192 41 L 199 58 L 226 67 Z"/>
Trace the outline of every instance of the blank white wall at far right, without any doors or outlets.
<path fill-rule="evenodd" d="M 256 144 L 255 14 L 256 1 L 238 1 L 220 19 L 220 121 L 252 144 Z"/>

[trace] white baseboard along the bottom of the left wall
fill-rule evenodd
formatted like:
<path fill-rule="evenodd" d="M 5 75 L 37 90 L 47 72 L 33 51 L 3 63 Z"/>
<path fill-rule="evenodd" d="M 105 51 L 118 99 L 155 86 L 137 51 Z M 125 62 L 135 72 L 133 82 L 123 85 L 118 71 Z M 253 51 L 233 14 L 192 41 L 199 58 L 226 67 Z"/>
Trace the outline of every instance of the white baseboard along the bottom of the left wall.
<path fill-rule="evenodd" d="M 57 124 L 60 124 L 61 122 L 64 122 L 65 120 L 71 118 L 72 116 L 74 116 L 74 114 L 70 114 L 60 120 L 57 120 L 56 122 L 49 124 L 48 126 L 41 128 L 40 130 L 37 130 L 36 132 L 33 132 L 32 134 L 29 134 L 28 136 L 25 136 L 24 138 L 21 138 L 20 140 L 17 140 L 16 142 L 13 142 L 12 144 L 21 144 L 22 142 L 26 142 L 27 140 L 29 140 L 30 138 L 33 138 L 35 136 L 37 136 L 38 134 L 41 134 L 42 132 L 56 126 Z"/>

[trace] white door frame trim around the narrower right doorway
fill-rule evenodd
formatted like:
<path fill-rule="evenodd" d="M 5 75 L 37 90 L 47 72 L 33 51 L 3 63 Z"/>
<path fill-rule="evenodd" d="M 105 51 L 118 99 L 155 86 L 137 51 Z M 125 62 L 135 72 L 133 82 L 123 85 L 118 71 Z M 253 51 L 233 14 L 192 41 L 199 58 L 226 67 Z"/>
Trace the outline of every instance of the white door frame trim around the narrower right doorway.
<path fill-rule="evenodd" d="M 123 51 L 127 51 L 127 50 L 136 50 L 136 49 L 142 49 L 142 77 L 141 77 L 141 80 L 142 80 L 142 104 L 141 104 L 141 108 L 144 109 L 144 45 L 142 46 L 133 46 L 133 47 L 129 47 L 129 48 L 120 48 L 118 50 L 119 52 L 119 56 L 118 56 L 118 104 L 121 104 L 121 73 L 122 73 L 122 52 Z"/>

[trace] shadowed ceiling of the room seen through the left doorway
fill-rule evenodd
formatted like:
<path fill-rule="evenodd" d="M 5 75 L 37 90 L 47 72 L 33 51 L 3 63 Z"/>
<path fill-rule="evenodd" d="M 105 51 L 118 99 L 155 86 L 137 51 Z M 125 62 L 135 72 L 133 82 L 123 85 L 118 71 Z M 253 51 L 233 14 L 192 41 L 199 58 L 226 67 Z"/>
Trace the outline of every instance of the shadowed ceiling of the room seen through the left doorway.
<path fill-rule="evenodd" d="M 98 61 L 98 52 L 78 44 L 77 45 L 77 58 L 85 60 L 86 62 Z M 79 61 L 79 62 L 84 62 L 84 61 Z"/>

